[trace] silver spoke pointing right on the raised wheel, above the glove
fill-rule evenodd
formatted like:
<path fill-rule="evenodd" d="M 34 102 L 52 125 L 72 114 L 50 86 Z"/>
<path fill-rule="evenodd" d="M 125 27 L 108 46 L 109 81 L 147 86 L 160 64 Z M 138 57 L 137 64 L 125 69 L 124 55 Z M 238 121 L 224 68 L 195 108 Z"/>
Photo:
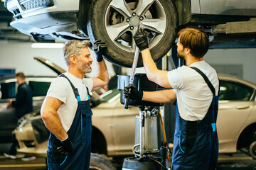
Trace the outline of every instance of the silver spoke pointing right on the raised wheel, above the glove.
<path fill-rule="evenodd" d="M 159 34 L 164 34 L 166 30 L 166 20 L 165 19 L 146 19 L 142 22 L 145 29 L 154 31 Z"/>

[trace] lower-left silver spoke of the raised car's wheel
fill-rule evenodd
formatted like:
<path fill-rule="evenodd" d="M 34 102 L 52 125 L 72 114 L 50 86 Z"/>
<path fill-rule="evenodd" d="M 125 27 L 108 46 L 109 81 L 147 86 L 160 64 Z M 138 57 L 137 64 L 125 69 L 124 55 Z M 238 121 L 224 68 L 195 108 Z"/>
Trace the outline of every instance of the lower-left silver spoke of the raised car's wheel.
<path fill-rule="evenodd" d="M 129 30 L 129 23 L 118 23 L 112 26 L 107 26 L 106 28 L 110 39 L 115 41 Z"/>

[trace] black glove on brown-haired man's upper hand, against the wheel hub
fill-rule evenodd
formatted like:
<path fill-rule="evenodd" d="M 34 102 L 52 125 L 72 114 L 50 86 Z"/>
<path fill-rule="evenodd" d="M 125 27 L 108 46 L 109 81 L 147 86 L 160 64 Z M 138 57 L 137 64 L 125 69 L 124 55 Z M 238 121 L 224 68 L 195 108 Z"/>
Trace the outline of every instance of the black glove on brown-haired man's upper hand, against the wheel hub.
<path fill-rule="evenodd" d="M 149 48 L 149 44 L 147 42 L 146 34 L 144 30 L 141 28 L 138 28 L 136 33 L 133 36 L 136 45 L 139 47 L 139 50 L 145 50 L 146 48 Z"/>

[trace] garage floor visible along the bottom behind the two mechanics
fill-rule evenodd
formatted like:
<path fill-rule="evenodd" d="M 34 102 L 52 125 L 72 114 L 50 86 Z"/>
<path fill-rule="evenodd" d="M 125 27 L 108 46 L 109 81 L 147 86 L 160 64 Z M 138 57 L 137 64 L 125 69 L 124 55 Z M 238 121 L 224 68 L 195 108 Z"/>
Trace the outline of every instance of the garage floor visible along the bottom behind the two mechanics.
<path fill-rule="evenodd" d="M 46 159 L 37 157 L 34 161 L 23 162 L 21 159 L 9 159 L 4 157 L 4 152 L 10 144 L 0 144 L 0 170 L 46 170 Z M 121 158 L 123 159 L 123 158 Z M 122 162 L 119 161 L 119 162 Z M 122 169 L 122 163 L 114 163 L 118 170 Z M 220 154 L 218 170 L 256 170 L 256 160 L 239 151 L 236 154 Z"/>

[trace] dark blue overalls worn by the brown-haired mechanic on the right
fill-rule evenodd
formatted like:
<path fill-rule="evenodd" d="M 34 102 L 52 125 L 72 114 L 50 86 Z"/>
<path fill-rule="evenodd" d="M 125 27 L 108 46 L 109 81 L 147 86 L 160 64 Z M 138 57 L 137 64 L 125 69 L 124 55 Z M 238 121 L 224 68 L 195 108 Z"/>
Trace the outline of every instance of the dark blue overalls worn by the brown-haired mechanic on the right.
<path fill-rule="evenodd" d="M 171 169 L 207 170 L 216 169 L 218 164 L 218 135 L 216 119 L 218 114 L 218 96 L 206 74 L 196 67 L 191 67 L 201 74 L 213 93 L 213 101 L 203 120 L 183 120 L 176 103 L 176 125 L 174 150 Z"/>

